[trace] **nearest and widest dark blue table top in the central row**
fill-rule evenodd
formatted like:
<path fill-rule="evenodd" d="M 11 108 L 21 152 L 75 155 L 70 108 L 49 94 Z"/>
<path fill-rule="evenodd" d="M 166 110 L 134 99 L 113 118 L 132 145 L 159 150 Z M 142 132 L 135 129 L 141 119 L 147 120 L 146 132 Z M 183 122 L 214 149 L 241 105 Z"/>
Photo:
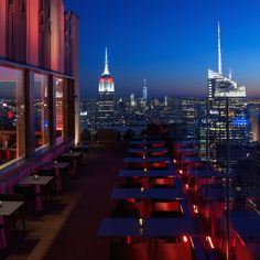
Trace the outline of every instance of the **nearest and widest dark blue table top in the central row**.
<path fill-rule="evenodd" d="M 138 218 L 104 218 L 98 230 L 98 236 L 180 236 L 194 235 L 193 224 L 183 217 L 176 218 L 148 218 L 139 225 Z"/>

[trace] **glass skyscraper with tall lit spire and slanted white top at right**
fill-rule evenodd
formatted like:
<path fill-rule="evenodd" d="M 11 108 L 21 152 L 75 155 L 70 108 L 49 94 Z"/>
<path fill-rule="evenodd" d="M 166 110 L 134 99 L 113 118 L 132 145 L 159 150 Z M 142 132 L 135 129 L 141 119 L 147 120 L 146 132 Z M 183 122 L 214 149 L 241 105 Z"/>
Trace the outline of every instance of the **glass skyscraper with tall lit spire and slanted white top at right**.
<path fill-rule="evenodd" d="M 218 72 L 208 69 L 208 128 L 209 160 L 221 171 L 226 169 L 227 123 L 229 123 L 230 166 L 235 167 L 238 160 L 245 156 L 249 142 L 246 87 L 239 86 L 231 76 L 223 74 L 218 23 Z"/>

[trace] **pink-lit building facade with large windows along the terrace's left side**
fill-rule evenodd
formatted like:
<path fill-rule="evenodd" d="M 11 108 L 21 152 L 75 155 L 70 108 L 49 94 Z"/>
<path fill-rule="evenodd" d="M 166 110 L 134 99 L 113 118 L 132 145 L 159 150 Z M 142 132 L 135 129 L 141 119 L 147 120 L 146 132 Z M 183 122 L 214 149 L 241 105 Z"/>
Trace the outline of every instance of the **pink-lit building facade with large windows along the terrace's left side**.
<path fill-rule="evenodd" d="M 13 181 L 78 140 L 78 23 L 63 0 L 0 1 L 0 170 Z"/>

